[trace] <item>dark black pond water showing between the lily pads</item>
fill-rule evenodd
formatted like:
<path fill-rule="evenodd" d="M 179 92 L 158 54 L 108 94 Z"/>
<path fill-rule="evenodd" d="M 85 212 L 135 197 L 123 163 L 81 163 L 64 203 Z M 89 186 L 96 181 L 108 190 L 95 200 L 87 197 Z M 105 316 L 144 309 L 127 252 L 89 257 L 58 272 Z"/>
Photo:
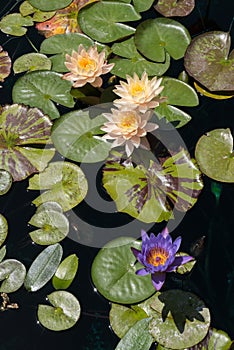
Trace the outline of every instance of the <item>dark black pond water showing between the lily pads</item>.
<path fill-rule="evenodd" d="M 11 12 L 17 12 L 19 3 L 20 1 L 0 0 L 0 17 L 8 13 L 12 5 L 16 7 Z M 197 8 L 191 15 L 179 20 L 188 27 L 192 35 L 207 29 L 225 31 L 229 29 L 233 16 L 233 1 L 211 0 L 209 3 L 209 14 L 206 18 L 204 16 L 208 1 L 201 0 L 197 1 Z M 147 13 L 145 16 L 151 15 Z M 34 28 L 30 28 L 27 35 L 39 48 L 43 37 L 39 36 Z M 9 52 L 13 61 L 23 53 L 32 51 L 25 37 L 11 38 L 0 33 L 0 45 Z M 182 62 L 174 65 L 167 74 L 177 76 L 180 65 Z M 0 91 L 0 104 L 12 102 L 11 89 L 14 81 L 15 77 L 12 73 Z M 196 142 L 203 133 L 215 128 L 229 127 L 233 130 L 234 127 L 233 99 L 219 101 L 203 96 L 199 98 L 199 106 L 188 110 L 193 117 L 192 121 L 179 130 L 192 155 Z M 59 159 L 58 155 L 56 157 Z M 87 167 L 88 171 L 92 171 L 91 167 Z M 214 187 L 217 183 L 205 176 L 204 183 L 205 187 L 197 204 L 173 232 L 175 236 L 182 234 L 182 249 L 187 252 L 194 248 L 196 240 L 205 236 L 204 245 L 196 251 L 199 254 L 198 263 L 190 276 L 186 278 L 172 276 L 165 287 L 184 288 L 199 295 L 210 308 L 212 326 L 228 332 L 234 338 L 234 188 L 231 184 L 218 184 L 221 196 L 216 203 Z M 0 197 L 0 212 L 9 223 L 7 256 L 22 261 L 28 268 L 42 248 L 33 245 L 28 236 L 31 229 L 27 222 L 35 212 L 31 201 L 38 193 L 27 191 L 27 185 L 28 180 L 15 183 L 7 195 Z M 97 227 L 100 222 L 105 221 L 103 215 L 93 211 L 86 203 L 81 203 L 75 208 L 73 214 L 87 222 L 92 222 L 92 225 L 95 224 Z M 113 220 L 117 223 L 118 220 L 124 221 L 127 218 L 124 214 L 119 214 L 117 219 L 115 217 Z M 155 225 L 152 231 L 157 233 L 161 227 L 162 225 Z M 82 234 L 84 233 L 81 230 Z M 98 248 L 77 242 L 79 236 L 77 236 L 76 220 L 71 222 L 70 235 L 77 237 L 76 241 L 66 238 L 62 245 L 64 255 L 76 253 L 79 256 L 78 275 L 69 288 L 81 303 L 82 315 L 79 322 L 71 330 L 64 332 L 46 330 L 37 323 L 36 310 L 38 303 L 45 303 L 46 295 L 53 291 L 52 284 L 48 283 L 36 293 L 28 293 L 21 288 L 10 295 L 12 302 L 19 303 L 19 310 L 0 314 L 0 350 L 113 350 L 115 348 L 118 338 L 109 329 L 110 305 L 94 291 L 90 278 L 91 264 Z"/>

